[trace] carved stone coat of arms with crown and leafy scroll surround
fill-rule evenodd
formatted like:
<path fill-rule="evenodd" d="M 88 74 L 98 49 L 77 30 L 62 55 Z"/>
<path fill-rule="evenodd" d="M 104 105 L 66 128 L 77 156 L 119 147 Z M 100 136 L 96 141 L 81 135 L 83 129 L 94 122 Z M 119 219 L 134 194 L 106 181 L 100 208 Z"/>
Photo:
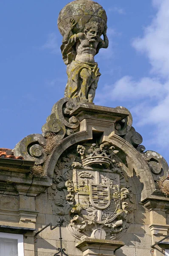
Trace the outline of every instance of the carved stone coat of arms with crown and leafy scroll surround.
<path fill-rule="evenodd" d="M 116 154 L 110 143 L 74 145 L 56 164 L 53 211 L 78 239 L 118 239 L 127 227 L 132 194 Z"/>

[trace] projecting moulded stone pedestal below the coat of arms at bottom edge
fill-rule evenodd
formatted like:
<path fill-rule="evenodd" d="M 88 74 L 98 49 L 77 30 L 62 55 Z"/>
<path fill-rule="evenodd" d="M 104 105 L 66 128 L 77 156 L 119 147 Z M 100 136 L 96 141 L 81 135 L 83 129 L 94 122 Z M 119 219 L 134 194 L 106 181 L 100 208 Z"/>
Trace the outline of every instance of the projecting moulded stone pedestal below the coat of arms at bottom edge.
<path fill-rule="evenodd" d="M 76 244 L 83 256 L 115 256 L 115 250 L 124 246 L 121 241 L 85 238 Z"/>

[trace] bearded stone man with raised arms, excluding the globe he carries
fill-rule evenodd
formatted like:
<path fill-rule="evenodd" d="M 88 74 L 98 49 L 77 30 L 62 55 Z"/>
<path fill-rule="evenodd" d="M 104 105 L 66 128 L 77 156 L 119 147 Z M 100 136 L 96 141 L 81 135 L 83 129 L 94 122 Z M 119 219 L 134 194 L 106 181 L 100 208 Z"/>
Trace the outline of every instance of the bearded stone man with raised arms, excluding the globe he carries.
<path fill-rule="evenodd" d="M 76 24 L 74 19 L 70 20 L 70 28 L 65 33 L 61 46 L 63 60 L 68 65 L 65 97 L 78 97 L 80 102 L 93 102 L 101 75 L 94 56 L 99 49 L 108 47 L 107 29 L 103 32 L 102 40 L 99 23 L 93 21 L 85 24 L 84 33 L 70 36 Z"/>

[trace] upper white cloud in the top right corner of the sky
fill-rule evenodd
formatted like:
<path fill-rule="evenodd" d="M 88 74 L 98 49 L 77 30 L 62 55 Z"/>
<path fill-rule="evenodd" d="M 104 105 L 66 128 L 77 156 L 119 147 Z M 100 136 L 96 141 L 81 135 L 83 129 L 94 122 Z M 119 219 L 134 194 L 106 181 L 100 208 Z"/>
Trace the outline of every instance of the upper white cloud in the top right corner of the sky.
<path fill-rule="evenodd" d="M 153 73 L 169 78 L 169 0 L 154 3 L 158 3 L 156 17 L 146 27 L 144 37 L 134 39 L 132 45 L 146 53 Z"/>

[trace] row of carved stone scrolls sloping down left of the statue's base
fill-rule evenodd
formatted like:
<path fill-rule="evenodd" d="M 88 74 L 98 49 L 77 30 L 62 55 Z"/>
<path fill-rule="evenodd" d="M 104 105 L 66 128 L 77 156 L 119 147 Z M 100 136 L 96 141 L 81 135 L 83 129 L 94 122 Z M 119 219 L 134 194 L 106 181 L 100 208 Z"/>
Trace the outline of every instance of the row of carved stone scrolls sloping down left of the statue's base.
<path fill-rule="evenodd" d="M 21 140 L 14 148 L 15 156 L 23 156 L 25 160 L 35 161 L 36 165 L 43 165 L 48 154 L 64 137 L 73 134 L 79 129 L 79 119 L 71 116 L 75 108 L 73 99 L 60 99 L 52 108 L 42 134 L 31 134 Z"/>

